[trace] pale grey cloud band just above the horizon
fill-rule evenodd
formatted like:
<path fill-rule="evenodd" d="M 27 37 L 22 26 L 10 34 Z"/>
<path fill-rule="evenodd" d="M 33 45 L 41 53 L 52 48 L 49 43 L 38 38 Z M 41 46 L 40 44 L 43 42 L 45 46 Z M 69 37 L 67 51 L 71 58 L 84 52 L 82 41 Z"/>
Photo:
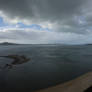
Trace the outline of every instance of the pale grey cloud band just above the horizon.
<path fill-rule="evenodd" d="M 25 44 L 87 44 L 92 41 L 92 32 L 76 34 L 71 32 L 51 32 L 31 29 L 9 28 L 0 31 L 0 42 L 9 41 Z"/>

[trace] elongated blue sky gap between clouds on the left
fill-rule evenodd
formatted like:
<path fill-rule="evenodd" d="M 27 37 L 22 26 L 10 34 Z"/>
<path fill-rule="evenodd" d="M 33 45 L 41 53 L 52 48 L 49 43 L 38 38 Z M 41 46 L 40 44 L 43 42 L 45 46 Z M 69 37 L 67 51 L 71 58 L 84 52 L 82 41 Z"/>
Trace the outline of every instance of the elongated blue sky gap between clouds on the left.
<path fill-rule="evenodd" d="M 38 25 L 38 24 L 31 24 L 31 25 L 27 25 L 24 24 L 22 22 L 18 22 L 16 24 L 9 24 L 4 22 L 3 18 L 0 17 L 0 30 L 1 29 L 6 29 L 6 28 L 19 28 L 19 29 L 33 29 L 33 30 L 40 30 L 40 31 L 50 31 L 49 28 L 43 28 L 42 26 Z"/>

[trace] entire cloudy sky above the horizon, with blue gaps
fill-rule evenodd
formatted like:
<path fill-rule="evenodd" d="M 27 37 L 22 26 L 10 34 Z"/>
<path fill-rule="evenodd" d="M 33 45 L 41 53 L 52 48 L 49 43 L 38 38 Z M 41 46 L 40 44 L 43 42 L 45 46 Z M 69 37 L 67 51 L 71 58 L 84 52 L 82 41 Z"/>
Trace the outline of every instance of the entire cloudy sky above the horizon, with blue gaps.
<path fill-rule="evenodd" d="M 0 0 L 0 42 L 91 44 L 92 0 Z"/>

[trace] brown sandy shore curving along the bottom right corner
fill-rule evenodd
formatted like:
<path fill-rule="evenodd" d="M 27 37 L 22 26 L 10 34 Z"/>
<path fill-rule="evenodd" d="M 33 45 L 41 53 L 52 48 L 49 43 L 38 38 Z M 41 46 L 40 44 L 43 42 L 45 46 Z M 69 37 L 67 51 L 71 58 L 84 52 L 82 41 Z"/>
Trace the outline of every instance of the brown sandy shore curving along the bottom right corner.
<path fill-rule="evenodd" d="M 72 81 L 36 92 L 84 92 L 92 86 L 92 72 L 84 74 Z"/>

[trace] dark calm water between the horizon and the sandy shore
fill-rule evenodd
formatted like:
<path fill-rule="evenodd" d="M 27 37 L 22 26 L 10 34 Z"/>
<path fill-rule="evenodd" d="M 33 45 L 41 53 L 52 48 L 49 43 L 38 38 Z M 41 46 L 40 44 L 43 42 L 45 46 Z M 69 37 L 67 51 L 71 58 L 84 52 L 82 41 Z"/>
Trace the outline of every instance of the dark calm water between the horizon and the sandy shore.
<path fill-rule="evenodd" d="M 30 61 L 0 69 L 0 92 L 32 92 L 92 71 L 92 45 L 0 46 L 0 56 L 11 54 L 25 55 Z M 0 67 L 11 62 L 0 57 Z"/>

